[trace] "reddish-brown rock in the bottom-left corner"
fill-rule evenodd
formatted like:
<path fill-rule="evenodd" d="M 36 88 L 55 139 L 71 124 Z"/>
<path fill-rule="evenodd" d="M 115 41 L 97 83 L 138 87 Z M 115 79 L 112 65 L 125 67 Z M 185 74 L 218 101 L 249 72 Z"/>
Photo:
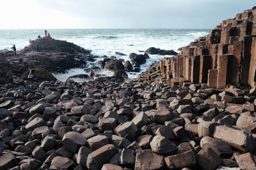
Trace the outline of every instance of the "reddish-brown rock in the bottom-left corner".
<path fill-rule="evenodd" d="M 7 152 L 0 157 L 0 169 L 8 169 L 17 166 L 17 159 L 12 152 Z"/>

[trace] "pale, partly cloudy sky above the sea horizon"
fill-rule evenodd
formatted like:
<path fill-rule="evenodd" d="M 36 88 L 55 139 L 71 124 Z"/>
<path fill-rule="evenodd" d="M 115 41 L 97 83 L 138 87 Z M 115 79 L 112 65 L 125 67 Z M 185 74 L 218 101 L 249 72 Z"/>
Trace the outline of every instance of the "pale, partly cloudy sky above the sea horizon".
<path fill-rule="evenodd" d="M 255 0 L 0 0 L 0 29 L 211 29 Z"/>

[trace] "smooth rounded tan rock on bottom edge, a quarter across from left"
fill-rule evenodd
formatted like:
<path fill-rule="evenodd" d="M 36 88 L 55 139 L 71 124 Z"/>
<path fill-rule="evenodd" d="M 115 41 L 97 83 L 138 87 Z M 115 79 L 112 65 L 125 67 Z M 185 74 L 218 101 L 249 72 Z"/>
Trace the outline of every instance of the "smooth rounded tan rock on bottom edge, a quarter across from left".
<path fill-rule="evenodd" d="M 50 169 L 63 169 L 67 170 L 74 164 L 72 159 L 68 159 L 65 157 L 54 157 L 51 162 Z"/>

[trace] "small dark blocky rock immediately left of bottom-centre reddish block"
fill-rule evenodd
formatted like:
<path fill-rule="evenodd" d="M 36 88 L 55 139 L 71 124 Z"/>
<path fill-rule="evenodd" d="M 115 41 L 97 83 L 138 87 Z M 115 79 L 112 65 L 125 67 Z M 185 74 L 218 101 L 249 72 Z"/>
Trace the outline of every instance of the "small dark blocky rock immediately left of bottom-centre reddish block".
<path fill-rule="evenodd" d="M 135 156 L 134 150 L 132 149 L 123 149 L 120 155 L 119 162 L 121 165 L 134 165 Z"/>

